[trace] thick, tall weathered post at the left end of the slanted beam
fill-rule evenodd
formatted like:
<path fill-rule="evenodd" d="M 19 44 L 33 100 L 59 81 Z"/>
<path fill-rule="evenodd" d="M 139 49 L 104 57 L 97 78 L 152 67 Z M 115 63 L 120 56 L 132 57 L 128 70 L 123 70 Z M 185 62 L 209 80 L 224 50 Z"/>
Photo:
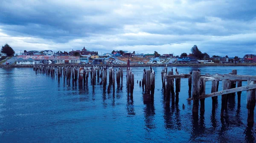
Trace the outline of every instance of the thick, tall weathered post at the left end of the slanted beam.
<path fill-rule="evenodd" d="M 193 71 L 192 73 L 192 98 L 193 98 L 193 107 L 192 112 L 198 112 L 199 107 L 199 91 L 200 91 L 200 72 Z"/>

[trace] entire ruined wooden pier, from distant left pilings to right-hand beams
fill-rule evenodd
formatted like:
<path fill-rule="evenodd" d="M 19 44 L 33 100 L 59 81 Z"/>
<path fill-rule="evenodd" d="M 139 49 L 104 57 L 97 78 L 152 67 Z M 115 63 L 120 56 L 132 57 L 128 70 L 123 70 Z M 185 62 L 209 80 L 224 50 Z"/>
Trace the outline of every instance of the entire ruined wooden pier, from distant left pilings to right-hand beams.
<path fill-rule="evenodd" d="M 64 80 L 67 79 L 67 82 L 79 82 L 83 84 L 88 84 L 90 82 L 93 86 L 96 83 L 103 86 L 103 89 L 106 89 L 107 85 L 107 76 L 109 76 L 108 88 L 111 86 L 117 87 L 122 84 L 123 79 L 123 70 L 122 68 L 114 69 L 113 67 L 81 67 L 81 66 L 35 66 L 33 70 L 36 74 L 42 73 L 47 76 L 55 77 L 60 79 L 63 76 Z M 90 81 L 88 81 L 90 73 Z M 109 75 L 108 75 L 109 74 Z M 127 93 L 133 95 L 134 90 L 134 73 L 132 73 L 131 67 L 127 68 Z M 237 93 L 238 96 L 238 105 L 240 106 L 241 102 L 241 91 L 247 91 L 247 111 L 248 117 L 247 122 L 254 122 L 254 108 L 256 105 L 256 76 L 248 75 L 237 75 L 237 70 L 232 70 L 229 74 L 205 74 L 201 75 L 200 70 L 191 71 L 188 74 L 180 74 L 173 69 L 168 71 L 167 67 L 163 68 L 161 72 L 161 80 L 163 87 L 163 96 L 166 104 L 170 102 L 179 101 L 179 93 L 181 79 L 188 79 L 188 88 L 189 95 L 192 95 L 192 98 L 187 98 L 187 100 L 192 100 L 192 112 L 193 114 L 200 112 L 205 112 L 204 101 L 205 98 L 212 98 L 212 109 L 215 109 L 215 104 L 218 98 L 218 95 L 221 95 L 221 118 L 224 117 L 224 113 L 227 113 L 227 104 L 228 98 L 233 97 Z M 210 81 L 211 84 L 211 93 L 206 94 L 206 82 Z M 218 91 L 219 82 L 221 81 L 222 90 Z M 242 81 L 246 81 L 247 85 L 242 86 Z M 138 81 L 137 81 L 138 83 Z M 155 73 L 152 67 L 150 70 L 143 70 L 142 80 L 140 81 L 140 86 L 143 89 L 143 101 L 152 102 L 154 101 L 154 88 L 155 88 Z M 191 94 L 192 92 L 192 94 Z M 176 95 L 176 96 L 175 96 Z M 191 96 L 190 96 L 191 97 Z M 171 100 L 172 99 L 172 100 Z M 176 99 L 176 100 L 175 100 Z M 200 105 L 200 108 L 199 108 Z M 183 109 L 185 105 L 183 105 Z M 200 110 L 199 110 L 200 109 Z"/>

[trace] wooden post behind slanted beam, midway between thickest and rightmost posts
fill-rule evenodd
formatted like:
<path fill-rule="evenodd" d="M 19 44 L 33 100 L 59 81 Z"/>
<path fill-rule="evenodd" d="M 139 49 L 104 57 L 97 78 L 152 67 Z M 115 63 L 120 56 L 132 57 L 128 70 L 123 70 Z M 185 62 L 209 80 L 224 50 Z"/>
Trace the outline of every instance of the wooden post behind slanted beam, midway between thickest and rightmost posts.
<path fill-rule="evenodd" d="M 228 79 L 222 79 L 222 90 L 230 89 L 230 81 Z M 221 117 L 224 116 L 224 110 L 227 111 L 227 99 L 228 94 L 221 95 Z"/>

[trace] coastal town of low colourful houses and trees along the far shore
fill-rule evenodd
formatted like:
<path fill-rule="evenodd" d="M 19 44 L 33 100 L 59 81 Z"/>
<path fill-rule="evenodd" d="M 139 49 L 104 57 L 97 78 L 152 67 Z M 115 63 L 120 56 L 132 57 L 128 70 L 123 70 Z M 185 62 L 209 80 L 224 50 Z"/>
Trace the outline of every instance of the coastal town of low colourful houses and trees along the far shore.
<path fill-rule="evenodd" d="M 196 45 L 195 45 L 196 46 Z M 197 46 L 196 46 L 197 48 Z M 2 46 L 3 49 L 3 46 Z M 198 49 L 198 48 L 197 48 Z M 199 50 L 200 51 L 200 50 Z M 201 52 L 201 51 L 200 51 Z M 14 55 L 14 54 L 13 54 Z M 20 52 L 20 55 L 8 56 L 0 53 L 1 64 L 33 65 L 33 64 L 213 64 L 213 63 L 254 63 L 256 55 L 247 54 L 243 58 L 238 56 L 209 56 L 202 53 L 201 57 L 193 53 L 181 53 L 175 56 L 174 53 L 159 54 L 154 53 L 136 53 L 135 51 L 113 50 L 109 53 L 99 54 L 97 51 L 87 50 L 83 47 L 81 50 L 57 51 L 53 50 L 30 50 Z M 13 56 L 13 57 L 12 57 Z M 12 59 L 12 60 L 11 60 Z M 9 62 L 11 61 L 11 62 Z"/>

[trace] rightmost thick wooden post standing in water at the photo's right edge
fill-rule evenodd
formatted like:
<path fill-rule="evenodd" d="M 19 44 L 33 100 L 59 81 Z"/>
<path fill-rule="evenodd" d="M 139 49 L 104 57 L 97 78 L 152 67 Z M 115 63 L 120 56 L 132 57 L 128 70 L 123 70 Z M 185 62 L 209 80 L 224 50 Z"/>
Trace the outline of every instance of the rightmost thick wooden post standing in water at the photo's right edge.
<path fill-rule="evenodd" d="M 248 81 L 248 85 L 256 84 L 256 81 Z M 247 90 L 247 109 L 248 117 L 247 123 L 254 123 L 254 108 L 256 104 L 255 89 Z"/>

